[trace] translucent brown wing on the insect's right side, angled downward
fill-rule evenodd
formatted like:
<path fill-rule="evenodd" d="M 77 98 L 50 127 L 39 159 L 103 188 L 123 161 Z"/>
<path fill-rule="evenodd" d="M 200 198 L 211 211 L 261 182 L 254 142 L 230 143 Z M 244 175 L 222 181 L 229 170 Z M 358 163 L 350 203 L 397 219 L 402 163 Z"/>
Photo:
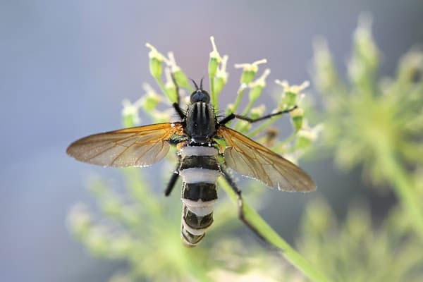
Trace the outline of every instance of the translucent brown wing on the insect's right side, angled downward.
<path fill-rule="evenodd" d="M 316 188 L 301 168 L 245 135 L 224 126 L 216 134 L 228 145 L 223 152 L 226 165 L 243 176 L 279 190 L 307 192 Z"/>

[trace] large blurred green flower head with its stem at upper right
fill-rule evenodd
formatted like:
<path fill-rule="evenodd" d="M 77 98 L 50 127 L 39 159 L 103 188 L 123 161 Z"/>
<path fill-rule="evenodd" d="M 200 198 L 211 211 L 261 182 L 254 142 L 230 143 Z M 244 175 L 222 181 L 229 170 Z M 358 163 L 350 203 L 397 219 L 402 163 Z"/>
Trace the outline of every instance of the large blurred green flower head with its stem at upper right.
<path fill-rule="evenodd" d="M 423 238 L 423 194 L 412 179 L 422 178 L 423 52 L 405 54 L 395 78 L 378 78 L 379 57 L 368 18 L 354 33 L 348 82 L 338 75 L 327 45 L 316 45 L 314 78 L 324 98 L 324 144 L 335 150 L 339 166 L 360 164 L 374 184 L 390 184 Z"/>

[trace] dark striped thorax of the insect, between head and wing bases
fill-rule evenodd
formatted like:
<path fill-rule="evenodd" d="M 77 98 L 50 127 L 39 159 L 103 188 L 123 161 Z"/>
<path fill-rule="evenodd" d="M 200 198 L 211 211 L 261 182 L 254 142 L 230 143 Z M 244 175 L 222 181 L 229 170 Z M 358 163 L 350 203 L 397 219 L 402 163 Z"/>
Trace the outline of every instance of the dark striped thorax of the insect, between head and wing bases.
<path fill-rule="evenodd" d="M 212 104 L 196 102 L 188 106 L 185 132 L 191 141 L 204 144 L 216 133 L 216 116 Z"/>

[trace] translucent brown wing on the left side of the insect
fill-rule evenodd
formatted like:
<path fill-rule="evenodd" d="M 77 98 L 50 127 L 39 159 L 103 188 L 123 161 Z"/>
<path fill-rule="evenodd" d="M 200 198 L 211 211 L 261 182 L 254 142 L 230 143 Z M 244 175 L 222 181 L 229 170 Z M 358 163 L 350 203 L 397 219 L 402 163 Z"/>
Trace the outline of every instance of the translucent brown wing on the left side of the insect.
<path fill-rule="evenodd" d="M 73 142 L 66 153 L 100 166 L 149 166 L 166 156 L 166 141 L 182 130 L 180 123 L 157 123 L 99 133 Z"/>

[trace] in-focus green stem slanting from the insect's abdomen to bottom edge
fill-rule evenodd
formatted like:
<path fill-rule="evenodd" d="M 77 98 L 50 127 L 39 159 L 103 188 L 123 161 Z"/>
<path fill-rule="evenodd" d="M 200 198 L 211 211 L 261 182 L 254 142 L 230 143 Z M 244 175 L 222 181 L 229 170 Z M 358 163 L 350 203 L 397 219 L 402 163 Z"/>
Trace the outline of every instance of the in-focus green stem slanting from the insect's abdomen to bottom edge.
<path fill-rule="evenodd" d="M 235 203 L 238 203 L 238 197 L 233 192 L 231 187 L 226 183 L 225 180 L 222 178 L 219 179 L 219 184 L 225 190 L 226 194 L 231 198 L 231 200 Z M 266 223 L 262 219 L 257 212 L 250 207 L 247 202 L 245 202 L 245 199 L 243 200 L 243 212 L 245 219 L 251 224 L 252 227 L 254 227 L 259 234 L 266 240 L 267 243 L 270 245 L 276 247 L 278 250 L 282 252 L 283 257 L 285 257 L 288 262 L 293 264 L 299 271 L 302 272 L 305 276 L 307 276 L 312 281 L 329 281 L 328 278 L 326 278 L 321 272 L 312 265 L 307 259 L 302 257 L 300 253 L 295 251 L 293 247 L 291 247 L 288 243 L 286 243 L 281 236 L 274 231 L 273 228 L 269 226 L 269 224 Z"/>

